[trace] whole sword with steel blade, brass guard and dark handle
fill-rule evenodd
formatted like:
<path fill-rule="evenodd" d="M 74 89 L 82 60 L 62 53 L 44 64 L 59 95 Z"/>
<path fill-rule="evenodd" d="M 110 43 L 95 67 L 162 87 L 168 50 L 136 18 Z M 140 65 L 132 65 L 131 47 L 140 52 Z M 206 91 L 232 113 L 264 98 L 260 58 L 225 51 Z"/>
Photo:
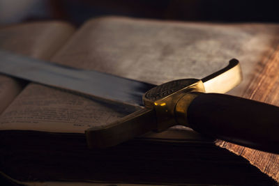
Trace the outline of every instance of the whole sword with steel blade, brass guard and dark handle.
<path fill-rule="evenodd" d="M 0 51 L 0 59 L 0 72 L 5 75 L 133 106 L 142 105 L 143 100 L 139 111 L 105 127 L 87 129 L 90 148 L 114 146 L 150 130 L 185 125 L 211 137 L 279 153 L 279 107 L 222 94 L 241 82 L 236 59 L 203 79 L 179 79 L 160 86 L 6 51 Z"/>

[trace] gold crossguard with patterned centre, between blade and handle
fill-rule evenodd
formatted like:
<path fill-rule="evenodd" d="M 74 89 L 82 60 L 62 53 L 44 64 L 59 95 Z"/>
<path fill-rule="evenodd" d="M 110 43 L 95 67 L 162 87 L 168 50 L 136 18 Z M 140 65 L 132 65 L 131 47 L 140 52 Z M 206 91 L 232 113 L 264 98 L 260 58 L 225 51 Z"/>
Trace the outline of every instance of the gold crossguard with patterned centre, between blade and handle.
<path fill-rule="evenodd" d="M 151 130 L 188 126 L 187 109 L 196 97 L 193 92 L 226 93 L 241 80 L 239 61 L 232 59 L 227 67 L 203 79 L 179 79 L 151 88 L 143 95 L 144 109 L 105 127 L 87 129 L 89 148 L 114 146 Z"/>

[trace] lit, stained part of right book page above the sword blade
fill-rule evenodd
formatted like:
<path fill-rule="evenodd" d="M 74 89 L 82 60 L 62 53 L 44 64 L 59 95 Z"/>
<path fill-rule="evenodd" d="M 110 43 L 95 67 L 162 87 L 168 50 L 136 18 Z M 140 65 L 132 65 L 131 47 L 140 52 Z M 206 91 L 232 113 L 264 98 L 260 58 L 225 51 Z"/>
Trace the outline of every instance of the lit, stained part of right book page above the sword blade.
<path fill-rule="evenodd" d="M 162 84 L 174 79 L 201 79 L 236 58 L 244 79 L 234 94 L 241 95 L 254 66 L 279 39 L 278 31 L 279 26 L 274 24 L 105 17 L 86 22 L 53 60 L 75 68 Z M 71 52 L 66 55 L 68 51 Z"/>

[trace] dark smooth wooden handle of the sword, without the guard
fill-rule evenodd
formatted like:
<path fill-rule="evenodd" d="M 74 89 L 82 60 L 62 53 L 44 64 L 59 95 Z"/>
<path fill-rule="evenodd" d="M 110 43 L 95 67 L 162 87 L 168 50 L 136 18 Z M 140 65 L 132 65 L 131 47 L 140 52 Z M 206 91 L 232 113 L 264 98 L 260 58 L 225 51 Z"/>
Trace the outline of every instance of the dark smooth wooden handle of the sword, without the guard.
<path fill-rule="evenodd" d="M 279 107 L 232 95 L 201 93 L 188 107 L 197 132 L 271 153 L 279 153 Z"/>

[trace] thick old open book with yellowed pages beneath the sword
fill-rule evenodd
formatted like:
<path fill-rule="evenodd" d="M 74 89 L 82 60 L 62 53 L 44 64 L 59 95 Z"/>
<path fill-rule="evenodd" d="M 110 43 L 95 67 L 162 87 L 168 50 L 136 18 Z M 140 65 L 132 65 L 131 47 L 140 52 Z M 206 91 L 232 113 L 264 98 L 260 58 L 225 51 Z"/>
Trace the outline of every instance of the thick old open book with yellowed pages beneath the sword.
<path fill-rule="evenodd" d="M 9 26 L 0 29 L 0 47 L 152 84 L 200 79 L 236 58 L 244 81 L 229 93 L 242 96 L 260 83 L 255 79 L 262 78 L 262 69 L 273 68 L 266 67 L 266 58 L 276 52 L 278 31 L 276 24 L 104 17 L 89 20 L 77 31 L 61 22 Z M 186 127 L 150 132 L 113 148 L 87 149 L 84 130 L 132 113 L 125 104 L 104 103 L 3 75 L 0 102 L 0 171 L 17 180 L 273 184 L 259 169 L 278 180 L 277 155 L 250 150 L 246 158 L 257 169 L 216 143 L 234 152 L 242 147 L 203 137 Z M 274 167 L 257 164 L 263 156 Z"/>

